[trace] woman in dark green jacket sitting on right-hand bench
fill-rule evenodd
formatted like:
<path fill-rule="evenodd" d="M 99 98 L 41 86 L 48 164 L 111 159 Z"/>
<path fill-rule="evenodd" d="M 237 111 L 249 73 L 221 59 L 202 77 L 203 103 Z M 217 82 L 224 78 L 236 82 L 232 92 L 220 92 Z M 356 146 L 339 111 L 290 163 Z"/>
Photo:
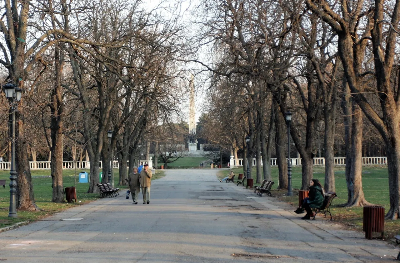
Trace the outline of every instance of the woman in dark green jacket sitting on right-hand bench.
<path fill-rule="evenodd" d="M 308 197 L 304 198 L 301 208 L 294 211 L 296 214 L 303 214 L 304 210 L 307 214 L 301 219 L 311 219 L 314 214 L 311 208 L 320 208 L 322 203 L 324 203 L 325 191 L 321 183 L 317 179 L 312 179 L 310 181 L 310 192 L 308 192 Z"/>

